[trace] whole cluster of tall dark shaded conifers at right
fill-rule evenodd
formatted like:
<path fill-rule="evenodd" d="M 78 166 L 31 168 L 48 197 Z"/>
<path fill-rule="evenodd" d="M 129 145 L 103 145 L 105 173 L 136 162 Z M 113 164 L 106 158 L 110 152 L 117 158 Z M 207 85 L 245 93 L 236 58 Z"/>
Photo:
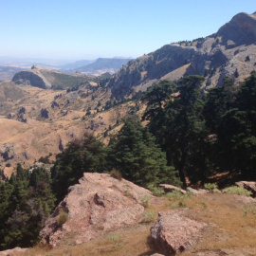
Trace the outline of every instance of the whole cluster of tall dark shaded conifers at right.
<path fill-rule="evenodd" d="M 175 84 L 158 83 L 142 100 L 144 119 L 168 165 L 183 184 L 201 181 L 214 172 L 236 172 L 256 178 L 256 73 L 238 88 L 225 78 L 205 96 L 203 78 L 188 76 Z M 165 89 L 164 89 L 165 88 Z M 162 92 L 162 94 L 161 94 Z"/>

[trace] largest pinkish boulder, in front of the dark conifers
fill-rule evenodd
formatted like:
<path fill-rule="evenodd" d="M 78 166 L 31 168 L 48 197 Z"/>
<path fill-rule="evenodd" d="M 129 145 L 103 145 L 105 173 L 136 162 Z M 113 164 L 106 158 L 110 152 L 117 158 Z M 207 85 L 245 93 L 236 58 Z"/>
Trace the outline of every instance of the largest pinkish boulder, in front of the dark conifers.
<path fill-rule="evenodd" d="M 68 232 L 76 244 L 85 243 L 106 232 L 132 226 L 142 219 L 152 193 L 125 179 L 109 174 L 83 174 L 80 184 L 69 188 L 41 231 L 42 242 L 54 247 Z M 65 215 L 66 222 L 61 218 Z"/>

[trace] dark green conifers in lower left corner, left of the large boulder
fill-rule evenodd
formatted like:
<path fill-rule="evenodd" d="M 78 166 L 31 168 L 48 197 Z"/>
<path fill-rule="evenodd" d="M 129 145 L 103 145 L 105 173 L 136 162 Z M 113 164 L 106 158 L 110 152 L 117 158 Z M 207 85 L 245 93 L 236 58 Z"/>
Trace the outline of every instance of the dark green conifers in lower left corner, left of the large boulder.
<path fill-rule="evenodd" d="M 18 164 L 17 174 L 0 182 L 0 249 L 35 245 L 54 201 L 46 170 L 29 173 Z"/>

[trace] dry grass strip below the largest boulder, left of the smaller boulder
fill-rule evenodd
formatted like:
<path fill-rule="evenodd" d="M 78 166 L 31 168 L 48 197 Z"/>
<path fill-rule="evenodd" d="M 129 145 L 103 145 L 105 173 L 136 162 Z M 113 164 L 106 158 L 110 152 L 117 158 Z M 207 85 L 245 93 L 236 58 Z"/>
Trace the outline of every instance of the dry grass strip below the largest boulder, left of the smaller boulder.
<path fill-rule="evenodd" d="M 24 256 L 147 256 L 156 251 L 150 238 L 151 225 L 137 225 L 111 232 L 83 245 L 68 245 L 68 241 L 63 241 L 51 250 L 38 246 L 27 251 Z"/>

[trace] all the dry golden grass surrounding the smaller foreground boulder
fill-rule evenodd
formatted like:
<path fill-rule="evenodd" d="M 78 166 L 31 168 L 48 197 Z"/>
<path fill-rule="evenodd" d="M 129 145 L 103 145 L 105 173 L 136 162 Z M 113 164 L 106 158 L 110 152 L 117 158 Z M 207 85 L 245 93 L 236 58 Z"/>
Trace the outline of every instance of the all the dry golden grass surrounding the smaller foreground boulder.
<path fill-rule="evenodd" d="M 225 249 L 229 252 L 228 255 L 247 255 L 243 254 L 245 250 L 254 251 L 256 249 L 256 205 L 246 203 L 244 197 L 216 193 L 185 198 L 178 196 L 175 198 L 155 197 L 151 200 L 147 211 L 156 213 L 172 208 L 177 210 L 180 207 L 180 202 L 182 202 L 181 214 L 208 224 L 199 243 L 182 255 L 195 255 L 199 251 L 217 251 L 219 249 Z M 187 210 L 183 210 L 184 207 Z M 141 223 L 132 228 L 119 229 L 83 245 L 75 245 L 72 240 L 74 235 L 70 233 L 58 247 L 53 249 L 34 247 L 26 252 L 26 256 L 151 255 L 156 252 L 150 237 L 150 228 L 156 217 L 157 214 L 151 223 Z M 235 253 L 233 248 L 236 248 Z"/>

